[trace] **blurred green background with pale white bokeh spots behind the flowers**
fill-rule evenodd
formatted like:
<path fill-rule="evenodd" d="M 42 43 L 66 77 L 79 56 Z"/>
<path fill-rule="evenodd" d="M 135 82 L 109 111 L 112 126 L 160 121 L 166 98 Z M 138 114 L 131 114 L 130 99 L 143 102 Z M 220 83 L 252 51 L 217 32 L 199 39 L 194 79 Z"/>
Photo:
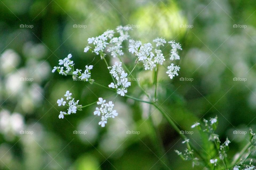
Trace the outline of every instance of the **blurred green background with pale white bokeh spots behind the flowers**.
<path fill-rule="evenodd" d="M 58 118 L 63 108 L 56 101 L 66 90 L 83 105 L 111 91 L 53 74 L 53 66 L 72 53 L 77 68 L 93 64 L 93 79 L 108 85 L 104 62 L 83 48 L 89 37 L 126 24 L 134 27 L 131 37 L 143 43 L 165 37 L 182 45 L 179 77 L 159 74 L 158 102 L 187 131 L 202 117 L 217 115 L 217 133 L 223 142 L 229 137 L 231 159 L 248 140 L 248 133 L 233 131 L 248 131 L 256 121 L 255 8 L 254 1 L 242 0 L 1 0 L 0 169 L 166 169 L 155 135 L 169 169 L 191 169 L 191 162 L 174 152 L 185 149 L 179 134 L 147 104 L 119 96 L 118 118 L 105 128 L 93 115 L 96 105 Z M 124 60 L 132 69 L 134 58 L 127 54 Z M 137 76 L 153 90 L 151 72 Z M 128 94 L 143 98 L 137 90 L 131 87 Z M 189 137 L 201 152 L 212 149 L 196 130 Z"/>

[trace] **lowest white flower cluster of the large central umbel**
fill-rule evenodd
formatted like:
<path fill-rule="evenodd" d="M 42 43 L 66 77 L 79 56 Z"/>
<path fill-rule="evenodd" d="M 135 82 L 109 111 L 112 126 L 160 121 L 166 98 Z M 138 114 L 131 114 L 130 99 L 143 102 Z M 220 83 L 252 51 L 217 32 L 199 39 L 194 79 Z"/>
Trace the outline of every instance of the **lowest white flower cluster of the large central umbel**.
<path fill-rule="evenodd" d="M 99 98 L 99 101 L 97 102 L 98 105 L 101 105 L 100 108 L 96 107 L 96 110 L 94 111 L 94 115 L 101 116 L 101 121 L 99 122 L 99 125 L 101 127 L 105 127 L 105 124 L 107 123 L 107 120 L 111 118 L 115 118 L 115 116 L 118 115 L 116 110 L 113 110 L 114 104 L 112 101 L 109 101 L 109 103 L 105 103 L 106 100 L 103 100 L 101 97 Z"/>

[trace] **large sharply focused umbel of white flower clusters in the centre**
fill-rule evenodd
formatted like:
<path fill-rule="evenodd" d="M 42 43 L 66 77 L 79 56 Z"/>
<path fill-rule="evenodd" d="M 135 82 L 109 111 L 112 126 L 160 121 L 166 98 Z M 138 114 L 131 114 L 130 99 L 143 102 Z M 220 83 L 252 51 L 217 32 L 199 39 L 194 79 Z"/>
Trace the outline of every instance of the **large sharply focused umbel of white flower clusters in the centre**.
<path fill-rule="evenodd" d="M 130 52 L 135 56 L 136 65 L 139 63 L 143 63 L 145 70 L 153 70 L 157 68 L 157 66 L 163 65 L 166 60 L 174 61 L 180 59 L 178 55 L 178 50 L 182 50 L 182 48 L 179 43 L 175 43 L 175 41 L 169 41 L 168 43 L 171 46 L 171 50 L 170 53 L 165 56 L 160 49 L 160 46 L 165 46 L 166 44 L 166 40 L 164 38 L 158 37 L 157 39 L 153 40 L 155 46 L 158 48 L 154 49 L 154 45 L 152 45 L 150 42 L 142 44 L 142 42 L 139 40 L 131 39 L 128 33 L 128 31 L 130 31 L 131 29 L 132 28 L 128 25 L 120 25 L 116 28 L 116 32 L 114 30 L 107 30 L 102 35 L 88 38 L 88 44 L 90 44 L 90 46 L 87 44 L 87 46 L 84 48 L 84 52 L 86 53 L 90 51 L 92 53 L 95 53 L 96 55 L 99 55 L 102 60 L 105 60 L 107 52 L 111 53 L 110 55 L 113 57 L 121 57 L 124 54 L 122 49 L 123 41 L 129 41 L 129 49 L 127 52 Z M 114 34 L 118 36 L 115 37 Z M 71 60 L 71 57 L 72 54 L 68 54 L 68 56 L 65 57 L 63 60 L 59 60 L 59 66 L 55 66 L 52 72 L 54 73 L 57 70 L 58 73 L 61 75 L 72 75 L 73 80 L 79 79 L 93 84 L 94 80 L 91 79 L 91 70 L 93 69 L 93 65 L 86 65 L 85 70 L 82 72 L 81 69 L 74 68 L 74 62 Z M 174 65 L 174 63 L 169 64 L 166 73 L 171 79 L 173 79 L 173 77 L 178 76 L 178 71 L 180 67 Z M 128 75 L 124 71 L 122 67 L 122 62 L 115 62 L 113 66 L 108 66 L 108 69 L 109 73 L 113 77 L 113 82 L 109 84 L 109 87 L 115 89 L 118 95 L 125 96 L 125 94 L 127 93 L 127 88 L 131 86 L 131 82 L 128 81 L 128 77 L 130 75 Z M 78 105 L 79 100 L 75 102 L 73 98 L 67 97 L 67 100 L 68 99 L 71 99 L 70 101 L 67 101 L 68 104 L 66 104 L 67 102 L 64 101 L 63 98 L 57 101 L 59 106 L 69 106 L 67 112 L 60 112 L 59 118 L 64 118 L 64 115 L 67 114 L 76 113 L 77 110 L 82 110 L 82 106 Z M 100 99 L 102 98 L 100 97 L 99 100 Z M 102 101 L 104 100 L 102 99 Z M 109 117 L 114 118 L 115 116 L 117 116 L 116 111 L 112 110 L 114 104 L 112 103 L 112 101 L 110 102 L 111 104 L 101 104 L 102 107 L 98 108 L 99 112 L 97 112 L 97 115 L 100 114 L 102 116 L 102 121 L 99 122 L 102 127 L 105 126 Z"/>

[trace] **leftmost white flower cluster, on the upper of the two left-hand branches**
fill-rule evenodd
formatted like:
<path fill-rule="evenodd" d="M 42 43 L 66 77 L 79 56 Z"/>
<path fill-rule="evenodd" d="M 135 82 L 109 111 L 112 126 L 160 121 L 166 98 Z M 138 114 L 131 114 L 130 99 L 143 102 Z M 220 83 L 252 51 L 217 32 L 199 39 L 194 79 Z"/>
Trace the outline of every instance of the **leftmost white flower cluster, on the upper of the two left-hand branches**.
<path fill-rule="evenodd" d="M 66 70 L 64 70 L 64 67 L 55 66 L 52 72 L 54 73 L 55 70 L 58 70 L 59 74 L 67 75 L 67 73 L 69 73 L 72 70 L 74 65 L 74 62 L 70 60 L 71 57 L 72 54 L 69 54 L 66 58 L 64 58 L 64 60 L 59 60 L 59 65 L 63 65 Z"/>

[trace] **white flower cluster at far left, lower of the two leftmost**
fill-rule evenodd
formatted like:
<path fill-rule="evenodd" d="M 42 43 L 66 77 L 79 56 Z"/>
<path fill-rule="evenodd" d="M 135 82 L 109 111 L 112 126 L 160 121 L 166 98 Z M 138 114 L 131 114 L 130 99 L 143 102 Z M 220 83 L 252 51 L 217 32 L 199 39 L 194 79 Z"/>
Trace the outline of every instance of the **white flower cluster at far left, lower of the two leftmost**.
<path fill-rule="evenodd" d="M 66 97 L 66 100 L 69 100 L 68 101 L 68 105 L 66 104 L 67 102 L 64 101 L 63 98 L 57 100 L 58 106 L 61 106 L 61 105 L 65 106 L 65 105 L 67 105 L 69 107 L 67 109 L 67 112 L 62 112 L 62 111 L 60 112 L 59 118 L 63 119 L 64 115 L 71 114 L 71 113 L 76 113 L 77 110 L 82 110 L 81 109 L 82 105 L 78 105 L 79 100 L 77 100 L 75 102 L 75 99 L 72 98 L 71 95 L 72 95 L 72 93 L 70 93 L 69 91 L 66 91 L 66 94 L 64 95 Z"/>

